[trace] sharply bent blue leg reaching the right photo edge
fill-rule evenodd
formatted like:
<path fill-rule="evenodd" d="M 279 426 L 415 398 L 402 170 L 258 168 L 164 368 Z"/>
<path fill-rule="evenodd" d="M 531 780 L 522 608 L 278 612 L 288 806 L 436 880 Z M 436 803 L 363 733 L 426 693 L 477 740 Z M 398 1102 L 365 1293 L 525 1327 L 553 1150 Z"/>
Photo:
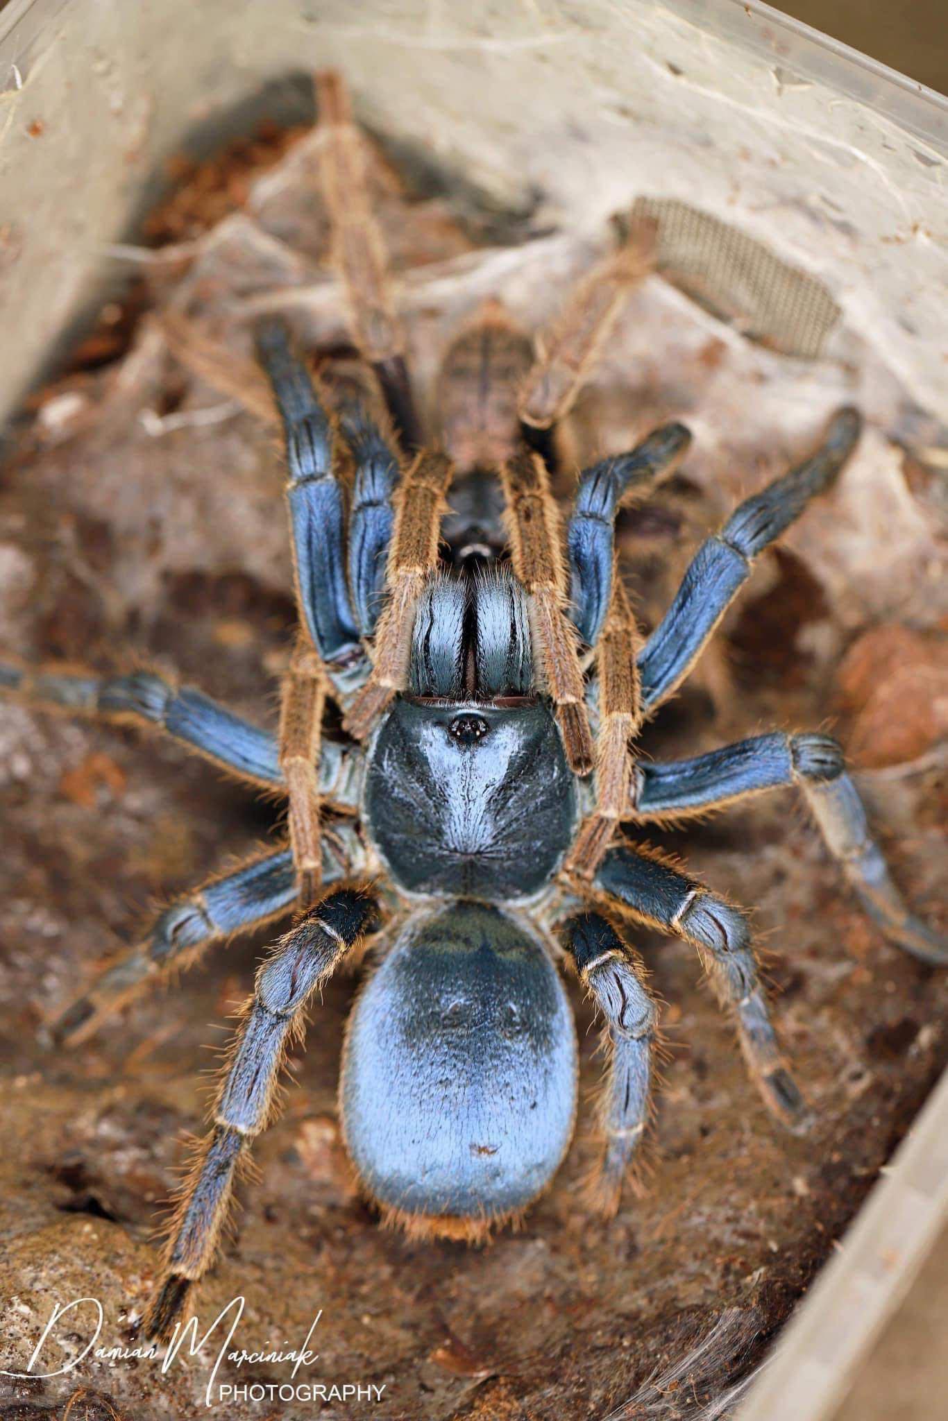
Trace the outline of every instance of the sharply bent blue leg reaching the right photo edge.
<path fill-rule="evenodd" d="M 843 750 L 829 735 L 759 735 L 694 760 L 640 764 L 637 776 L 635 818 L 667 823 L 799 786 L 826 847 L 885 936 L 925 962 L 948 962 L 948 944 L 908 911 L 893 882 Z"/>

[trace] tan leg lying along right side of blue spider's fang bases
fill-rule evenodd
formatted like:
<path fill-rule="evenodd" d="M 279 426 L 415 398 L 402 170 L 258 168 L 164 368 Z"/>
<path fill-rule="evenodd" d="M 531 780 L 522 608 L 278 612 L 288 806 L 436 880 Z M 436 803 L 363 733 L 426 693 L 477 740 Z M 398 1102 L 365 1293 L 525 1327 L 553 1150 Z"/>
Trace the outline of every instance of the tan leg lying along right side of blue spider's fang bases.
<path fill-rule="evenodd" d="M 560 514 L 550 493 L 550 479 L 543 459 L 526 452 L 503 465 L 500 479 L 507 500 L 513 571 L 529 597 L 533 637 L 563 733 L 566 759 L 576 774 L 588 774 L 593 736 L 577 632 L 566 615 Z"/>

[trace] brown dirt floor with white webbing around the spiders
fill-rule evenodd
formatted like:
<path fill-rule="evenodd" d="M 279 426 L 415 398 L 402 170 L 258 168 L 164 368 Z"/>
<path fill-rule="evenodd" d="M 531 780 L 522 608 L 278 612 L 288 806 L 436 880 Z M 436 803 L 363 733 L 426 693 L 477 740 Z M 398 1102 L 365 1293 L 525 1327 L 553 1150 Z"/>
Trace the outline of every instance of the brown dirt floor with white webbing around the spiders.
<path fill-rule="evenodd" d="M 294 138 L 244 145 L 230 185 L 226 162 L 220 180 L 182 175 L 152 232 L 183 246 L 142 249 L 134 308 L 107 310 L 99 344 L 33 402 L 0 492 L 3 654 L 102 671 L 146 658 L 274 722 L 294 612 L 273 438 L 171 358 L 151 313 L 173 306 L 246 352 L 247 317 L 279 307 L 313 350 L 345 344 L 313 139 Z M 439 351 L 483 298 L 502 296 L 536 328 L 596 254 L 596 239 L 536 233 L 529 219 L 516 244 L 493 244 L 492 219 L 469 193 L 415 192 L 378 158 L 372 173 L 429 402 Z M 863 766 L 898 881 L 932 915 L 944 865 L 934 709 L 948 703 L 937 639 L 944 495 L 925 452 L 905 449 L 918 412 L 894 378 L 881 367 L 783 360 L 650 280 L 566 432 L 564 487 L 577 462 L 625 448 L 658 419 L 691 423 L 682 473 L 623 519 L 625 566 L 650 622 L 702 533 L 806 452 L 847 399 L 868 415 L 858 455 L 762 558 L 719 654 L 644 746 L 677 756 L 775 725 L 833 725 Z M 0 1366 L 18 1370 L 57 1302 L 99 1299 L 102 1343 L 128 1341 L 155 1276 L 155 1214 L 178 1177 L 182 1134 L 202 1128 L 209 1047 L 225 1042 L 267 939 L 212 952 L 85 1047 L 53 1049 L 48 1022 L 97 962 L 134 941 L 156 899 L 246 854 L 280 821 L 271 804 L 168 743 L 11 703 L 0 706 Z M 780 1133 L 692 951 L 642 931 L 668 1044 L 647 1191 L 630 1192 L 608 1225 L 587 1216 L 577 1198 L 594 1150 L 587 1113 L 520 1233 L 479 1250 L 409 1243 L 381 1232 L 352 1189 L 335 1084 L 354 979 L 333 980 L 293 1063 L 286 1113 L 256 1150 L 262 1178 L 243 1191 L 239 1233 L 198 1295 L 206 1323 L 246 1297 L 236 1343 L 247 1349 L 298 1344 L 323 1309 L 320 1360 L 306 1380 L 385 1393 L 377 1407 L 337 1403 L 321 1414 L 721 1414 L 944 1066 L 948 976 L 867 925 L 792 794 L 650 837 L 756 909 L 816 1127 L 803 1140 Z M 597 1037 L 574 982 L 570 992 L 588 1094 Z M 74 1319 L 60 1330 L 65 1354 L 88 1339 L 87 1320 Z M 165 1377 L 153 1361 L 87 1360 L 70 1376 L 11 1384 L 0 1414 L 63 1414 L 70 1395 L 72 1421 L 203 1414 L 215 1351 Z M 61 1347 L 55 1356 L 61 1364 Z M 270 1384 L 289 1373 L 225 1364 L 217 1381 Z M 317 1410 L 226 1407 L 236 1418 Z"/>

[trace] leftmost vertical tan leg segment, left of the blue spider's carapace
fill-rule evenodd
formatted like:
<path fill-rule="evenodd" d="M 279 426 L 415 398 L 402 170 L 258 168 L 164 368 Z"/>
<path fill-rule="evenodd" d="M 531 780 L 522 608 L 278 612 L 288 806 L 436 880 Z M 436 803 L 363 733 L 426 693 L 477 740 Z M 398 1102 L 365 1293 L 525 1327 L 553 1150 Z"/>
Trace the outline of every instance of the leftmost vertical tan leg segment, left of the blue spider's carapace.
<path fill-rule="evenodd" d="M 318 895 L 323 874 L 318 764 L 324 706 L 323 664 L 311 647 L 300 641 L 283 682 L 280 769 L 290 797 L 290 845 L 303 911 Z"/>

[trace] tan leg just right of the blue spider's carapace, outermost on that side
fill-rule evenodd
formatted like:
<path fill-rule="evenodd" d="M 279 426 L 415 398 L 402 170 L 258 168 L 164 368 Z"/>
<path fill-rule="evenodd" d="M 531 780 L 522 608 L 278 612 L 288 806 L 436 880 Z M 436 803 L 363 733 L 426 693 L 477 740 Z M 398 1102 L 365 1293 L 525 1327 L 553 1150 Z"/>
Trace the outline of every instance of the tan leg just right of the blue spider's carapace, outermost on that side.
<path fill-rule="evenodd" d="M 600 732 L 596 745 L 596 811 L 581 826 L 566 870 L 591 878 L 628 816 L 634 762 L 630 742 L 641 725 L 638 666 L 642 639 L 625 588 L 613 578 L 613 601 L 598 642 Z"/>

